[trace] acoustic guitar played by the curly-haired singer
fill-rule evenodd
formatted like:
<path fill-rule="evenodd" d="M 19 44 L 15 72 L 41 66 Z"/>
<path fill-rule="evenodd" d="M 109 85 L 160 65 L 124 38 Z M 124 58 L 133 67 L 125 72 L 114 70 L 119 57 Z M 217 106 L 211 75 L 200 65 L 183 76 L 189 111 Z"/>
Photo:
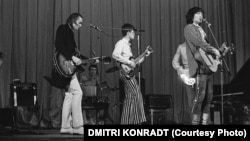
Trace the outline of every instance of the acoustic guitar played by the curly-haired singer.
<path fill-rule="evenodd" d="M 227 54 L 227 52 L 232 52 L 234 48 L 227 47 L 226 44 L 223 43 L 219 50 L 223 57 Z M 197 60 L 202 60 L 201 68 L 203 68 L 207 72 L 216 72 L 218 69 L 218 65 L 221 64 L 220 58 L 218 56 L 207 53 L 201 48 L 199 48 L 198 52 L 196 52 L 194 56 Z"/>

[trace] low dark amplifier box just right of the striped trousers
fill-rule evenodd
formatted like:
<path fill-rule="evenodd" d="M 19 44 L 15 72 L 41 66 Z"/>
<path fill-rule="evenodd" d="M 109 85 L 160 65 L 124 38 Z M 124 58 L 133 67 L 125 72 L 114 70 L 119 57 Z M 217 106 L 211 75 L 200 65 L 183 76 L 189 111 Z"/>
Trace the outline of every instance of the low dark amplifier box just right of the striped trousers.
<path fill-rule="evenodd" d="M 171 95 L 148 94 L 146 95 L 146 107 L 149 109 L 171 108 Z"/>

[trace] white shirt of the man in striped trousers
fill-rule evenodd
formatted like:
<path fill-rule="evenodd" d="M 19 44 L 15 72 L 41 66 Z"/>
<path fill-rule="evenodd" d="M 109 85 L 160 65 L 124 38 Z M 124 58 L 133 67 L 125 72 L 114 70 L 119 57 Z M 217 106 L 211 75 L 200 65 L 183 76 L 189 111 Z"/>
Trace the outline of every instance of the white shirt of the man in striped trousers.
<path fill-rule="evenodd" d="M 129 59 L 133 56 L 130 45 L 131 44 L 126 38 L 122 38 L 115 44 L 112 57 L 118 62 L 129 64 Z"/>

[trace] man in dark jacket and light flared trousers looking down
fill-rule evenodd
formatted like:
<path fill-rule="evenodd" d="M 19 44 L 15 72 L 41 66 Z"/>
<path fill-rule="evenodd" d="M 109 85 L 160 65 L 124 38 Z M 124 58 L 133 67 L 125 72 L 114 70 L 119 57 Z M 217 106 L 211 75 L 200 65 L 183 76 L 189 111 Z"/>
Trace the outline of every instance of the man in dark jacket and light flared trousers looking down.
<path fill-rule="evenodd" d="M 82 60 L 75 56 L 77 46 L 73 33 L 73 30 L 78 31 L 81 28 L 82 23 L 83 17 L 79 13 L 73 13 L 68 17 L 66 24 L 60 25 L 56 31 L 56 53 L 65 58 L 61 64 L 66 68 L 68 66 L 69 73 L 73 73 L 70 71 L 70 66 L 82 64 Z M 82 90 L 80 83 L 75 73 L 69 79 L 64 80 L 67 85 L 65 85 L 60 133 L 83 134 Z"/>

